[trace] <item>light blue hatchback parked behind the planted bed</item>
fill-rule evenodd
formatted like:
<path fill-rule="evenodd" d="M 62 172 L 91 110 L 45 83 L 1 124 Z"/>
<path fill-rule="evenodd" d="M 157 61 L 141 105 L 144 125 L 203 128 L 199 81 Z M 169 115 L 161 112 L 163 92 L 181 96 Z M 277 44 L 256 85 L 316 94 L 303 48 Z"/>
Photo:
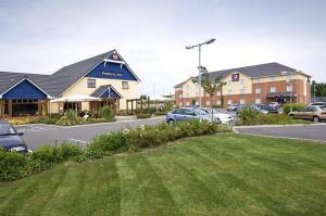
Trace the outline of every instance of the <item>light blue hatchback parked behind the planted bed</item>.
<path fill-rule="evenodd" d="M 212 122 L 212 116 L 210 116 L 205 111 L 200 110 L 199 107 L 179 107 L 167 113 L 166 115 L 166 123 L 173 124 L 175 122 L 179 120 L 188 120 L 191 118 L 197 119 L 204 119 Z M 221 123 L 221 120 L 217 117 L 213 117 L 214 123 Z"/>

